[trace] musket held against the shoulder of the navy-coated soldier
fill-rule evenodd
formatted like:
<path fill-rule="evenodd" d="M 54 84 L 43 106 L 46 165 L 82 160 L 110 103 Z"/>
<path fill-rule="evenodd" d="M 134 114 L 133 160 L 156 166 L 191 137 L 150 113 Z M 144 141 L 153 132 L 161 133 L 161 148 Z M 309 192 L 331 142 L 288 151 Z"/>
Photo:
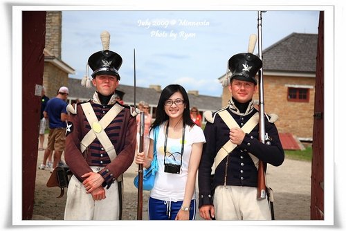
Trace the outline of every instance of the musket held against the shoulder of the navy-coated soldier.
<path fill-rule="evenodd" d="M 262 12 L 257 12 L 257 33 L 258 33 L 258 57 L 263 61 L 262 54 Z M 266 133 L 265 122 L 264 122 L 264 84 L 263 84 L 263 66 L 258 71 L 258 99 L 259 99 L 259 126 L 260 126 L 260 141 L 263 144 L 270 145 L 271 142 Z M 270 196 L 270 195 L 268 195 Z M 258 162 L 258 176 L 257 176 L 257 200 L 263 200 L 266 198 L 266 178 L 264 174 L 264 163 L 262 160 Z M 274 207 L 273 202 L 270 201 L 271 205 L 271 219 L 274 220 Z"/>

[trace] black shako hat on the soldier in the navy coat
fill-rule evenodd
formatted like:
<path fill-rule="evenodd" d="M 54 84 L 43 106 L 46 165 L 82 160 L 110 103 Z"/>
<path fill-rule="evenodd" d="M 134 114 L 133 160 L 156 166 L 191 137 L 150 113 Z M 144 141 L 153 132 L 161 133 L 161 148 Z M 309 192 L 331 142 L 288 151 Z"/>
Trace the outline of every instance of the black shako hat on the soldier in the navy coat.
<path fill-rule="evenodd" d="M 235 79 L 253 82 L 257 85 L 255 76 L 260 68 L 262 68 L 262 60 L 251 53 L 239 53 L 230 57 L 228 68 L 232 73 L 230 75 L 230 82 Z"/>

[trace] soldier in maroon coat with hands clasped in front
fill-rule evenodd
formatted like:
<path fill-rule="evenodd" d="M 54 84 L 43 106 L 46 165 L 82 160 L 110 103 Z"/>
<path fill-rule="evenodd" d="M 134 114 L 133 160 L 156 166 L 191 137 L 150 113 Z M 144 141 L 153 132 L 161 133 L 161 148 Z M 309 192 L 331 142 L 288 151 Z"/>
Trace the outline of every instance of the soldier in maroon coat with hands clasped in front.
<path fill-rule="evenodd" d="M 104 49 L 93 53 L 88 64 L 93 98 L 68 107 L 65 160 L 73 176 L 64 219 L 119 220 L 122 174 L 134 161 L 137 113 L 116 100 L 122 57 Z"/>

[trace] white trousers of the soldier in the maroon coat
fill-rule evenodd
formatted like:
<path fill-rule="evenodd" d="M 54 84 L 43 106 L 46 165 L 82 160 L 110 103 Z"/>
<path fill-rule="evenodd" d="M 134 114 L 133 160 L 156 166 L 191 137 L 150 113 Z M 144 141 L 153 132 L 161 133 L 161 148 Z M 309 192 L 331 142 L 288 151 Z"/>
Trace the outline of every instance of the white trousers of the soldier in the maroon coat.
<path fill-rule="evenodd" d="M 91 167 L 93 172 L 100 171 L 99 167 Z M 106 190 L 106 189 L 105 189 Z M 73 175 L 67 189 L 64 220 L 118 220 L 119 219 L 119 192 L 115 181 L 108 190 L 106 198 L 94 201 L 91 194 Z"/>

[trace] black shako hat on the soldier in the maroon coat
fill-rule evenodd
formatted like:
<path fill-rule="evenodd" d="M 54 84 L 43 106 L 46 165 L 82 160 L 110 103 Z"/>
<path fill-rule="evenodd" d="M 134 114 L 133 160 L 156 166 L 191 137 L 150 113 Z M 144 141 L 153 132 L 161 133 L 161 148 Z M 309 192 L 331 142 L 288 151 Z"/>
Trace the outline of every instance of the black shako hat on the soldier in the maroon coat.
<path fill-rule="evenodd" d="M 89 57 L 88 64 L 93 70 L 92 77 L 96 75 L 113 75 L 120 80 L 118 71 L 122 64 L 122 57 L 117 53 L 111 50 L 100 50 Z"/>

